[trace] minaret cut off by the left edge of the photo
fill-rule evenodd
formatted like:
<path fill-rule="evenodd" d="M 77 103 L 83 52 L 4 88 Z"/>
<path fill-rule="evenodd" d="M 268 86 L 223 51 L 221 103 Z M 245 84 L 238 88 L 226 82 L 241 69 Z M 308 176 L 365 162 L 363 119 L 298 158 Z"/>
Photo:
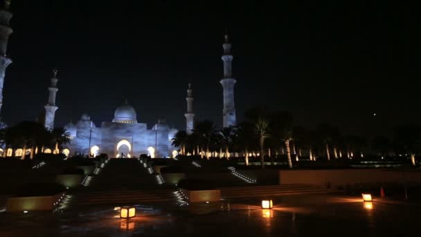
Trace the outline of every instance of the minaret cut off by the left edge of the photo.
<path fill-rule="evenodd" d="M 12 12 L 9 11 L 10 0 L 4 0 L 3 7 L 0 9 L 0 111 L 3 105 L 3 83 L 6 68 L 12 63 L 12 60 L 7 56 L 8 40 L 10 34 L 13 32 L 9 26 L 9 21 L 12 18 Z"/>

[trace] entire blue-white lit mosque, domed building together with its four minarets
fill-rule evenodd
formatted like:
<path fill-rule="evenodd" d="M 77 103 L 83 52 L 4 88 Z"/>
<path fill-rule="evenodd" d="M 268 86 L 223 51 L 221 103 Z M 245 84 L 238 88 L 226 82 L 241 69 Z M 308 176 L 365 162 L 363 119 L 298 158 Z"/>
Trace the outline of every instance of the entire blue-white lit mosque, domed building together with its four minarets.
<path fill-rule="evenodd" d="M 3 102 L 3 82 L 6 74 L 6 68 L 12 62 L 6 53 L 8 38 L 12 33 L 10 28 L 10 1 L 4 1 L 3 8 L 0 9 L 0 110 Z M 229 35 L 224 35 L 223 48 L 223 67 L 224 76 L 220 80 L 223 89 L 223 109 L 222 121 L 224 127 L 235 125 L 235 105 L 234 105 L 234 85 L 236 80 L 231 76 L 231 43 Z M 58 91 L 57 70 L 53 71 L 51 84 L 48 87 L 48 102 L 44 106 L 45 114 L 42 123 L 47 130 L 53 130 L 55 112 L 58 107 L 55 104 L 55 98 Z M 194 128 L 192 87 L 189 84 L 187 89 L 187 112 L 186 132 L 192 132 Z M 66 132 L 70 134 L 71 142 L 64 146 L 60 151 L 66 155 L 84 154 L 99 155 L 107 154 L 109 157 L 138 157 L 141 154 L 150 155 L 150 157 L 172 157 L 177 155 L 177 148 L 172 146 L 172 139 L 177 133 L 177 129 L 170 128 L 163 119 L 160 119 L 151 129 L 147 128 L 146 123 L 138 123 L 137 114 L 131 105 L 125 101 L 114 112 L 112 121 L 104 121 L 97 127 L 87 114 L 82 114 L 80 120 L 73 124 L 64 126 Z M 18 149 L 19 150 L 19 149 Z M 2 150 L 1 150 L 2 151 Z M 46 149 L 44 152 L 51 152 Z"/>

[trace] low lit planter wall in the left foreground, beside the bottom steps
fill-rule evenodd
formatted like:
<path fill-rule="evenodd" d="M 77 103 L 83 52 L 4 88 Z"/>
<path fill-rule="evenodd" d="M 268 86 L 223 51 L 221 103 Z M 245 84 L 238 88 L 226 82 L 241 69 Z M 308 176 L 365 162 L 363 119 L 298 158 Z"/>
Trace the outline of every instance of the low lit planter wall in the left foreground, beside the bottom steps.
<path fill-rule="evenodd" d="M 48 211 L 52 210 L 64 193 L 51 196 L 12 197 L 6 201 L 6 211 Z"/>

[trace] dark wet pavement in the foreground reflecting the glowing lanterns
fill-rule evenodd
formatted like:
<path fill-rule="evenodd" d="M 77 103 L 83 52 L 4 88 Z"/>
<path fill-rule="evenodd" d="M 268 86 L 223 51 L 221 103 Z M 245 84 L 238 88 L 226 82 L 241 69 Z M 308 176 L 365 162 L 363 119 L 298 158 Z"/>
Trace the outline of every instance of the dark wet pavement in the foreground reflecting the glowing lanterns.
<path fill-rule="evenodd" d="M 335 195 L 287 196 L 274 208 L 260 200 L 135 205 L 118 218 L 111 206 L 0 213 L 0 236 L 409 236 L 419 233 L 421 205 Z"/>

